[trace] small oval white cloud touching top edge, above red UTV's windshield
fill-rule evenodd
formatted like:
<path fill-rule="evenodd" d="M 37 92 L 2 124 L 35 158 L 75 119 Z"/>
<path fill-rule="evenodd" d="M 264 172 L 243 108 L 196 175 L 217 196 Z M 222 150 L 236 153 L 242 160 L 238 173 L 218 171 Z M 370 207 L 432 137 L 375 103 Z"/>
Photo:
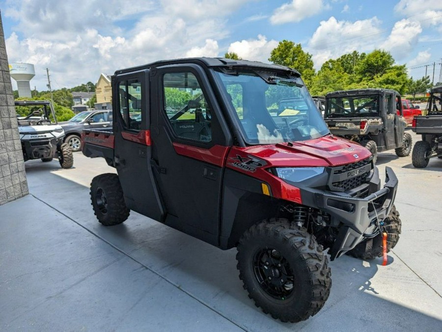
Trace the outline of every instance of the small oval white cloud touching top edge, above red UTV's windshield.
<path fill-rule="evenodd" d="M 270 17 L 272 24 L 301 22 L 307 17 L 316 15 L 324 9 L 330 8 L 323 0 L 292 0 L 275 9 Z"/>

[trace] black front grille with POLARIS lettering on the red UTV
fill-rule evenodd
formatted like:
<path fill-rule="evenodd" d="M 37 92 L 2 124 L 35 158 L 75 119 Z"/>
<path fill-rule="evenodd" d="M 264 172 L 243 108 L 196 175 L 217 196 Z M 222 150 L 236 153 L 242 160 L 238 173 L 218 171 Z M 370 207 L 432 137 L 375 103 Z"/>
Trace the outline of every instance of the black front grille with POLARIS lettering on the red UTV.
<path fill-rule="evenodd" d="M 366 183 L 367 176 L 373 168 L 371 164 L 371 158 L 367 158 L 356 163 L 332 167 L 330 171 L 329 189 L 332 191 L 347 191 L 363 185 Z M 367 165 L 370 165 L 370 167 L 367 167 Z M 361 169 L 361 167 L 365 168 Z M 351 174 L 353 170 L 363 172 L 355 176 Z M 364 194 L 366 193 L 361 192 L 358 196 L 363 196 Z"/>

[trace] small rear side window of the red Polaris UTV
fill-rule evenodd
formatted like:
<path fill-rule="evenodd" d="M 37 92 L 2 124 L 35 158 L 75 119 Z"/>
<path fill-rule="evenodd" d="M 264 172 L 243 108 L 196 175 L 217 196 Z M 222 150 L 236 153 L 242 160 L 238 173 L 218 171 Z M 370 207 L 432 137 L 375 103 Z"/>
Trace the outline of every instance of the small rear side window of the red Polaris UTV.
<path fill-rule="evenodd" d="M 125 129 L 140 130 L 141 83 L 137 79 L 118 84 L 120 114 Z"/>

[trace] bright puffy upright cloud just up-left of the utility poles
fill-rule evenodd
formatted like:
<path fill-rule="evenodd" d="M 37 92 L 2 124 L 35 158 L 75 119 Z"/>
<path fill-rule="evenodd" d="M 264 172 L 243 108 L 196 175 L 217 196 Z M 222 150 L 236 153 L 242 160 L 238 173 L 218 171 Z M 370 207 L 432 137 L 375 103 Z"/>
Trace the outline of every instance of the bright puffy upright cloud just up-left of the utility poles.
<path fill-rule="evenodd" d="M 422 27 L 418 22 L 403 19 L 394 24 L 390 35 L 380 48 L 390 51 L 396 61 L 402 60 L 413 50 L 421 32 Z"/>

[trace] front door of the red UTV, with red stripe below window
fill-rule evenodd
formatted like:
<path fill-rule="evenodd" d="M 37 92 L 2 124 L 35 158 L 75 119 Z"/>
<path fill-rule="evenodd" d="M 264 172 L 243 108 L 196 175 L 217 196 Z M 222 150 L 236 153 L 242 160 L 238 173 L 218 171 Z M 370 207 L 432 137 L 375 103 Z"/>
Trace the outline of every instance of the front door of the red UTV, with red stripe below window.
<path fill-rule="evenodd" d="M 152 163 L 166 224 L 218 245 L 227 125 L 201 67 L 159 67 L 151 78 Z"/>

